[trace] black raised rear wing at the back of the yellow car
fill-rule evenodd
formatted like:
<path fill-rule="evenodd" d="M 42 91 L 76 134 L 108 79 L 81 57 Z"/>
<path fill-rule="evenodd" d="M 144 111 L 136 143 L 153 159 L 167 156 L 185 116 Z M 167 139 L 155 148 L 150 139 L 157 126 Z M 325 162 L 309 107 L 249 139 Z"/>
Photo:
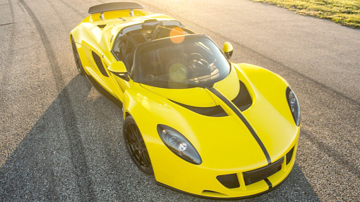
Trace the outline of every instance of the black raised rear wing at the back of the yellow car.
<path fill-rule="evenodd" d="M 119 11 L 119 10 L 130 10 L 130 15 L 133 16 L 133 9 L 142 9 L 144 6 L 135 2 L 114 2 L 107 4 L 100 4 L 89 8 L 89 14 L 101 13 L 101 18 L 104 20 L 104 12 L 107 11 Z"/>

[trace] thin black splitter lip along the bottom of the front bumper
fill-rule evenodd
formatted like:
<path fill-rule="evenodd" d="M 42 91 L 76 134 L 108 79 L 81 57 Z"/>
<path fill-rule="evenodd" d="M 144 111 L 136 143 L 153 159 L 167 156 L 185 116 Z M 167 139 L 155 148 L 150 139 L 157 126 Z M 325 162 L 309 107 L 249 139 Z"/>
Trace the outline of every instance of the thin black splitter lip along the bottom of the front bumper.
<path fill-rule="evenodd" d="M 290 172 L 290 173 L 291 173 L 291 172 Z M 289 173 L 289 175 L 290 175 L 290 173 Z M 276 189 L 277 187 L 279 187 L 280 184 L 284 183 L 284 182 L 287 180 L 287 178 L 289 177 L 289 175 L 287 175 L 287 177 L 285 177 L 285 179 L 282 180 L 282 182 L 280 182 L 279 184 L 276 184 L 275 187 L 271 187 L 271 189 L 268 189 L 268 190 L 266 190 L 266 191 L 260 192 L 260 193 L 258 193 L 258 194 L 253 194 L 253 195 L 249 195 L 249 196 L 241 196 L 241 197 L 232 197 L 232 198 L 220 198 L 220 197 L 211 197 L 211 196 L 202 196 L 202 195 L 198 195 L 198 194 L 191 194 L 191 193 L 188 193 L 188 192 L 186 192 L 186 191 L 182 191 L 182 190 L 180 190 L 180 189 L 176 189 L 176 188 L 174 188 L 174 187 L 170 187 L 169 185 L 162 184 L 161 182 L 157 182 L 157 181 L 156 181 L 156 184 L 159 184 L 160 186 L 165 187 L 165 188 L 167 188 L 167 189 L 172 189 L 172 190 L 174 190 L 174 191 L 178 191 L 178 192 L 180 192 L 180 193 L 182 193 L 182 194 L 187 194 L 187 195 L 189 195 L 189 196 L 195 196 L 195 197 L 198 197 L 198 198 L 207 198 L 207 199 L 215 199 L 215 200 L 226 200 L 226 201 L 229 201 L 229 200 L 238 200 L 238 199 L 245 199 L 245 198 L 253 198 L 253 197 L 256 197 L 256 196 L 261 196 L 261 195 L 263 195 L 263 194 L 266 194 L 266 193 L 268 193 L 269 191 L 272 191 L 272 190 Z M 204 191 L 210 191 L 210 190 L 204 190 Z M 222 194 L 222 193 L 220 193 L 220 194 Z"/>

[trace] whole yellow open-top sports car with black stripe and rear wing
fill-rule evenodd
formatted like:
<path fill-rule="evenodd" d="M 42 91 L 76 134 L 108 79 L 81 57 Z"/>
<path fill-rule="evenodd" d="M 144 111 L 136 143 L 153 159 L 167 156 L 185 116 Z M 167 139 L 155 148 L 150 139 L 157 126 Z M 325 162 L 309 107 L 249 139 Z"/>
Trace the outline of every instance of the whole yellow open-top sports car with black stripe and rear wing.
<path fill-rule="evenodd" d="M 133 163 L 196 196 L 242 198 L 277 187 L 292 170 L 300 131 L 289 84 L 229 62 L 229 42 L 221 51 L 206 35 L 141 8 L 92 6 L 70 32 L 80 75 L 124 111 Z"/>

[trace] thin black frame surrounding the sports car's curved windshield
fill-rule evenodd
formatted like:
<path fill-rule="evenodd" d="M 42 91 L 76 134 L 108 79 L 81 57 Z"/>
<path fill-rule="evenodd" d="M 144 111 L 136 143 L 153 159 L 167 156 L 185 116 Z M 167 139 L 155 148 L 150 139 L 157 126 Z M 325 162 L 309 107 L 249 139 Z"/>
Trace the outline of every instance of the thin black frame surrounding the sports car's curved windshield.
<path fill-rule="evenodd" d="M 184 35 L 181 36 L 175 36 L 175 37 L 184 37 Z M 134 61 L 133 61 L 133 70 L 131 72 L 131 77 L 133 78 L 134 82 L 140 83 L 140 84 L 146 84 L 141 82 L 140 80 L 140 52 L 145 49 L 148 48 L 149 46 L 155 46 L 157 44 L 160 43 L 171 43 L 172 42 L 172 38 L 174 37 L 167 37 L 167 38 L 162 38 L 162 39 L 156 39 L 152 42 L 145 42 L 143 44 L 139 44 L 138 48 L 135 51 L 135 55 L 134 55 Z M 232 69 L 232 64 L 230 63 L 230 61 L 227 59 L 227 57 L 224 55 L 224 52 L 219 48 L 219 46 L 217 46 L 217 44 L 212 41 L 212 39 L 210 39 L 210 37 L 206 36 L 205 34 L 186 34 L 185 35 L 185 39 L 208 39 L 210 40 L 210 42 L 212 42 L 213 44 L 215 44 L 215 46 L 217 47 L 217 49 L 219 49 L 219 51 L 222 53 L 222 56 L 226 59 L 227 63 L 229 64 L 229 69 L 226 75 L 223 75 L 222 77 L 218 77 L 215 80 L 213 80 L 212 82 L 206 84 L 206 85 L 191 85 L 191 87 L 185 87 L 186 89 L 188 88 L 193 88 L 193 87 L 212 87 L 213 84 L 215 84 L 216 82 L 220 82 L 221 80 L 224 80 L 224 78 L 226 78 L 227 76 L 229 76 L 231 69 Z M 151 86 L 150 84 L 146 84 Z M 164 87 L 162 87 L 164 88 Z M 170 89 L 170 87 L 168 87 L 167 89 Z M 181 89 L 181 88 L 176 88 L 176 89 Z M 182 88 L 184 89 L 184 88 Z"/>

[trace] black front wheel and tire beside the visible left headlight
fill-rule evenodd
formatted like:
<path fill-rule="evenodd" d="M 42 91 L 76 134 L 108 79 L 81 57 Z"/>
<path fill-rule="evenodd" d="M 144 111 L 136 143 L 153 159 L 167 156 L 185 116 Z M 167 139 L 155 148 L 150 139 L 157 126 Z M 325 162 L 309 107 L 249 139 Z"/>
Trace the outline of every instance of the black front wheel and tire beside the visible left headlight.
<path fill-rule="evenodd" d="M 146 149 L 143 136 L 136 125 L 135 120 L 131 116 L 126 117 L 123 125 L 123 135 L 126 144 L 126 150 L 133 160 L 133 163 L 144 173 L 151 175 L 154 173 Z"/>

